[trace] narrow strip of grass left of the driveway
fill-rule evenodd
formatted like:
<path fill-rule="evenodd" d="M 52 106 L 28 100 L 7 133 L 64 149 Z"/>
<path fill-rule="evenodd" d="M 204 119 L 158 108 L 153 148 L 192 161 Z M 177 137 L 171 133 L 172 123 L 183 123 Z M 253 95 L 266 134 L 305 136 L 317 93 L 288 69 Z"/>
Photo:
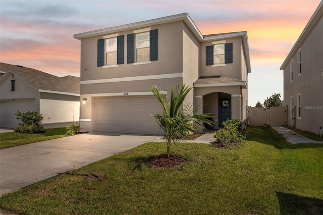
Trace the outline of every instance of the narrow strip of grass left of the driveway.
<path fill-rule="evenodd" d="M 2 133 L 0 134 L 0 149 L 66 136 L 66 128 L 46 129 L 45 133 L 40 134 L 22 134 L 17 132 Z"/>

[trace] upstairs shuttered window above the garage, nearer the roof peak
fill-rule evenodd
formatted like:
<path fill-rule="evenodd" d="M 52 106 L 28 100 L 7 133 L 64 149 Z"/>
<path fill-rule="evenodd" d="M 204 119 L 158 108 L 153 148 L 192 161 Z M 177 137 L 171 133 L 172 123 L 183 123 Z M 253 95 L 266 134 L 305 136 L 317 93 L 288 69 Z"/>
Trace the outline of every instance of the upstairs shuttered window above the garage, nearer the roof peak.
<path fill-rule="evenodd" d="M 139 29 L 127 35 L 127 63 L 150 63 L 158 60 L 158 29 Z"/>

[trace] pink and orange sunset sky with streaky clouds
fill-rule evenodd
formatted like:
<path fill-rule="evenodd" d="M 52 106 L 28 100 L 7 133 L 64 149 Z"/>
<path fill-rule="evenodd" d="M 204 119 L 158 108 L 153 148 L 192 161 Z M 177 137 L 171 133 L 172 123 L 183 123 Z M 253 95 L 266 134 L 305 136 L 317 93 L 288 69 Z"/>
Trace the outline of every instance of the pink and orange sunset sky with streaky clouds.
<path fill-rule="evenodd" d="M 249 105 L 283 98 L 279 68 L 320 0 L 0 1 L 0 61 L 57 76 L 80 76 L 74 34 L 187 12 L 202 34 L 247 31 Z"/>

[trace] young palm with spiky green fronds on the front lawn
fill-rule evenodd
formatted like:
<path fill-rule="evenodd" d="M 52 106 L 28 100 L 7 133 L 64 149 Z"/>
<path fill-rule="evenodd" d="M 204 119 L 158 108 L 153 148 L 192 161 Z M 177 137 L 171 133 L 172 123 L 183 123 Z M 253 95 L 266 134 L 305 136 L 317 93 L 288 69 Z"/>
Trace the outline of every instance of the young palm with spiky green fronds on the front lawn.
<path fill-rule="evenodd" d="M 209 120 L 213 118 L 211 114 L 196 114 L 201 106 L 193 108 L 193 104 L 183 104 L 187 93 L 191 89 L 192 87 L 185 85 L 171 87 L 170 101 L 166 101 L 166 96 L 160 87 L 158 88 L 154 85 L 150 88 L 155 97 L 163 105 L 163 114 L 152 114 L 151 116 L 154 118 L 153 124 L 157 123 L 165 132 L 168 158 L 170 156 L 172 141 L 176 143 L 178 138 L 186 138 L 190 136 L 191 132 L 196 132 L 196 124 L 204 129 L 203 123 L 208 125 L 213 123 Z"/>

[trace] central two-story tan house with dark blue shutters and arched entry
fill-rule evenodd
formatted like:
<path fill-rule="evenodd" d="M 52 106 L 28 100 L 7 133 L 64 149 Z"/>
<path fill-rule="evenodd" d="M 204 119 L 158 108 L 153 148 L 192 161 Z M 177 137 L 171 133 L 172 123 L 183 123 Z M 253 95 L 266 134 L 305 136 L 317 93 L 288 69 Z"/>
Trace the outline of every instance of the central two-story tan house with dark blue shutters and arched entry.
<path fill-rule="evenodd" d="M 150 114 L 174 85 L 193 87 L 186 102 L 205 104 L 214 129 L 246 119 L 247 32 L 202 35 L 187 13 L 75 34 L 81 41 L 81 118 L 85 131 L 159 134 Z"/>

